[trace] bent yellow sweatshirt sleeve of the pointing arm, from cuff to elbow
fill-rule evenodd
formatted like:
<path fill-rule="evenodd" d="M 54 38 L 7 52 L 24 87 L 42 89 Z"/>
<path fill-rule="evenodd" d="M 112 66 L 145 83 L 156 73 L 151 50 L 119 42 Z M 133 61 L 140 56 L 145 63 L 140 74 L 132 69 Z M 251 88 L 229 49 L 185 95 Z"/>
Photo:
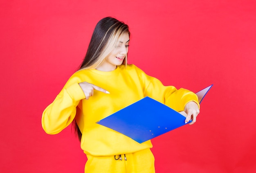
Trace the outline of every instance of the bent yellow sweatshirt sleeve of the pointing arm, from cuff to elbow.
<path fill-rule="evenodd" d="M 70 79 L 56 99 L 46 107 L 42 115 L 42 127 L 47 134 L 58 134 L 72 123 L 76 116 L 76 106 L 85 99 L 78 82 Z"/>

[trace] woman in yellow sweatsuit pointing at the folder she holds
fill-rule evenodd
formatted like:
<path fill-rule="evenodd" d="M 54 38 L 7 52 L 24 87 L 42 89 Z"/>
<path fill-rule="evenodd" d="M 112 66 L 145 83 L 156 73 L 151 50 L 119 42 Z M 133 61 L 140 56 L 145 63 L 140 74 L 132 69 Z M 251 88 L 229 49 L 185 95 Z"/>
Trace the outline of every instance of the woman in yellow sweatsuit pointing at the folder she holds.
<path fill-rule="evenodd" d="M 43 112 L 47 134 L 58 134 L 77 123 L 81 148 L 87 155 L 85 173 L 154 173 L 150 140 L 138 142 L 95 122 L 149 96 L 176 111 L 185 111 L 186 122 L 199 114 L 197 96 L 177 90 L 127 65 L 130 32 L 115 18 L 97 24 L 81 64 L 56 99 Z M 81 133 L 79 133 L 81 131 Z"/>

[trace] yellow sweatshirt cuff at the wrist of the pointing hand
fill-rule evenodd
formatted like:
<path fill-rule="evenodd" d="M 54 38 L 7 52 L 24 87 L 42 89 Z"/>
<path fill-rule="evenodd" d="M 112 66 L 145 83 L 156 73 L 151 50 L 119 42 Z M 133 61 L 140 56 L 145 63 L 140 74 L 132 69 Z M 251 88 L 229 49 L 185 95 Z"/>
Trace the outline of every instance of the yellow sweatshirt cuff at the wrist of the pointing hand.
<path fill-rule="evenodd" d="M 78 83 L 74 83 L 66 88 L 67 93 L 74 101 L 85 99 L 85 94 Z"/>

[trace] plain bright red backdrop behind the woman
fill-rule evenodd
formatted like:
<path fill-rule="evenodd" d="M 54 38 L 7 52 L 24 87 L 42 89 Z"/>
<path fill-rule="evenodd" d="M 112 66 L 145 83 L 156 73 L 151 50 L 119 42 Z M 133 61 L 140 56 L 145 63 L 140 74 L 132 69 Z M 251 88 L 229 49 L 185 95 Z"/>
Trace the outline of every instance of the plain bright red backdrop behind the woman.
<path fill-rule="evenodd" d="M 41 114 L 106 16 L 130 26 L 129 64 L 164 85 L 214 84 L 195 125 L 153 139 L 156 172 L 256 172 L 255 9 L 253 0 L 1 1 L 0 172 L 83 172 L 71 127 L 47 135 Z"/>

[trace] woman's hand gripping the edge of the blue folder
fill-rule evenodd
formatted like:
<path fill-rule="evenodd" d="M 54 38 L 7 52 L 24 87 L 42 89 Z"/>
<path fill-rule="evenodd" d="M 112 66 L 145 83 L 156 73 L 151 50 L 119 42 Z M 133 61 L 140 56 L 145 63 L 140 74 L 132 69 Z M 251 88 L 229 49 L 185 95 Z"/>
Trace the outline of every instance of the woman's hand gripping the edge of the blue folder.
<path fill-rule="evenodd" d="M 194 101 L 190 101 L 189 103 L 187 103 L 185 105 L 184 112 L 187 114 L 185 123 L 188 123 L 189 120 L 192 120 L 192 122 L 189 124 L 190 125 L 194 124 L 196 121 L 196 117 L 198 116 L 198 114 L 200 112 L 198 104 L 196 104 Z"/>

